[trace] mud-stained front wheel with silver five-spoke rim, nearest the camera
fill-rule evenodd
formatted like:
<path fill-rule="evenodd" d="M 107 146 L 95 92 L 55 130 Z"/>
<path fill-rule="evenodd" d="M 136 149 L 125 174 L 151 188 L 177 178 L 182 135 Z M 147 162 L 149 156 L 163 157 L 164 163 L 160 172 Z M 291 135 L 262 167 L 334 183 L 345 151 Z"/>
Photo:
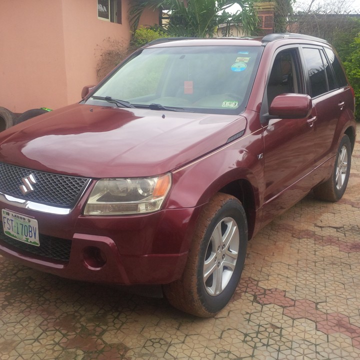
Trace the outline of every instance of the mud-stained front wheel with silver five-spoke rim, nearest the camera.
<path fill-rule="evenodd" d="M 247 221 L 241 203 L 217 193 L 201 211 L 182 277 L 163 285 L 170 304 L 200 317 L 216 314 L 236 289 L 246 247 Z"/>

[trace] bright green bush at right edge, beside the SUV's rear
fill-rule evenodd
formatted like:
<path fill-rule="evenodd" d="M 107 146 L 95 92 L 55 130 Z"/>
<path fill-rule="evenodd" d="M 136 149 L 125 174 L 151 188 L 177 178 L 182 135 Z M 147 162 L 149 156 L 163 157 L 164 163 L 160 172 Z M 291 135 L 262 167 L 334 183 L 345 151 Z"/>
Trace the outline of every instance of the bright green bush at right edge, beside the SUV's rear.
<path fill-rule="evenodd" d="M 354 38 L 349 47 L 350 54 L 346 57 L 343 64 L 350 84 L 355 91 L 355 101 L 357 104 L 355 117 L 357 121 L 360 121 L 360 33 Z"/>

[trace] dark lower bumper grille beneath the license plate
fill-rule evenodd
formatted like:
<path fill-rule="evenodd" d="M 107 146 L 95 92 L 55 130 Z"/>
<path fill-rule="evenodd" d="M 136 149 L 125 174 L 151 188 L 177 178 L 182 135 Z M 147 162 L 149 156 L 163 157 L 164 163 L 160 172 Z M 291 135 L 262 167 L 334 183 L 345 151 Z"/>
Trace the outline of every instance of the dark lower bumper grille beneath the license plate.
<path fill-rule="evenodd" d="M 23 252 L 66 262 L 70 259 L 71 240 L 68 239 L 39 234 L 40 246 L 13 239 L 3 232 L 0 232 L 0 239 Z"/>

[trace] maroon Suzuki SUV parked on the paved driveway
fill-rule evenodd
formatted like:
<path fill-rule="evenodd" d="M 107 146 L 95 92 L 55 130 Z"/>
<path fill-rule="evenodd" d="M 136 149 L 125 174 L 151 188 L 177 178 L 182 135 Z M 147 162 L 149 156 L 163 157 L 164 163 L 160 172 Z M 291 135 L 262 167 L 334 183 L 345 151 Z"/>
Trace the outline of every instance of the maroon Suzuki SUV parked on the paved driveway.
<path fill-rule="evenodd" d="M 80 103 L 1 132 L 0 252 L 72 279 L 162 285 L 211 316 L 262 226 L 312 189 L 342 196 L 353 112 L 324 40 L 152 42 Z"/>

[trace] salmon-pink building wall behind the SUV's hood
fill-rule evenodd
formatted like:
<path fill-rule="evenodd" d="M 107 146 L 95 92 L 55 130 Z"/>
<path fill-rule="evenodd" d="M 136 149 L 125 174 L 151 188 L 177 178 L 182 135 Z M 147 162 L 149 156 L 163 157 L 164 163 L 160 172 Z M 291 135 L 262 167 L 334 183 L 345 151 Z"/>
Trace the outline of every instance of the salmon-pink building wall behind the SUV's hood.
<path fill-rule="evenodd" d="M 83 85 L 96 83 L 103 40 L 130 40 L 129 0 L 121 7 L 117 24 L 97 18 L 96 0 L 1 0 L 0 106 L 23 112 L 79 101 Z M 157 21 L 152 11 L 141 18 Z"/>

